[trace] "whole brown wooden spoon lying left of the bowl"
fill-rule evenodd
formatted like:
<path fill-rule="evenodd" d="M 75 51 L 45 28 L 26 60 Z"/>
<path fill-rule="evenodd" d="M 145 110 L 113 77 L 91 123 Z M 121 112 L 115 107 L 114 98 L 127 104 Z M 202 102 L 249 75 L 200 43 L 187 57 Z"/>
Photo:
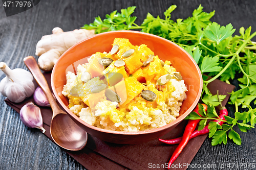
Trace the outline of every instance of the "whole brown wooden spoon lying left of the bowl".
<path fill-rule="evenodd" d="M 65 111 L 59 108 L 35 58 L 28 56 L 24 58 L 24 62 L 34 76 L 37 84 L 44 90 L 51 105 L 53 115 L 50 133 L 55 143 L 70 151 L 83 149 L 88 139 L 87 132 L 81 129 Z"/>

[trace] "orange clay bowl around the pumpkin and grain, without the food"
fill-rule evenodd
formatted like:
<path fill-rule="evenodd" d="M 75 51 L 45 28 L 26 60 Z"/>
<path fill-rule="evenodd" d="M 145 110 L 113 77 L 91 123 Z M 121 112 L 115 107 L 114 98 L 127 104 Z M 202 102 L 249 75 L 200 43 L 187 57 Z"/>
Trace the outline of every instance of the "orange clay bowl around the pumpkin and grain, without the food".
<path fill-rule="evenodd" d="M 172 62 L 172 66 L 181 72 L 188 89 L 186 92 L 187 99 L 183 101 L 180 115 L 174 122 L 153 130 L 119 132 L 91 126 L 69 110 L 68 99 L 61 94 L 63 85 L 66 84 L 67 70 L 74 70 L 73 68 L 76 68 L 78 64 L 86 62 L 86 60 L 83 60 L 84 58 L 96 52 L 110 52 L 115 38 L 128 38 L 133 45 L 146 44 L 161 60 L 169 60 Z M 159 36 L 138 31 L 101 33 L 75 44 L 58 59 L 51 75 L 51 85 L 57 101 L 79 127 L 101 140 L 121 144 L 134 144 L 153 140 L 172 131 L 196 107 L 202 91 L 202 82 L 202 75 L 198 65 L 180 46 Z"/>

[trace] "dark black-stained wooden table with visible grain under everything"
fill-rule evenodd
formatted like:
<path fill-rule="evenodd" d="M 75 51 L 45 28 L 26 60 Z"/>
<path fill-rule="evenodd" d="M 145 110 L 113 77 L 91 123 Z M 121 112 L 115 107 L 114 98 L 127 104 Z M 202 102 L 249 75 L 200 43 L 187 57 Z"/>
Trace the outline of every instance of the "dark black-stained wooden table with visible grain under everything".
<path fill-rule="evenodd" d="M 163 12 L 173 4 L 178 6 L 172 13 L 173 19 L 191 16 L 193 10 L 202 4 L 206 12 L 215 10 L 216 14 L 211 21 L 220 25 L 231 22 L 237 29 L 235 34 L 239 34 L 240 27 L 252 26 L 252 32 L 256 31 L 254 0 L 42 0 L 34 8 L 10 17 L 6 17 L 4 8 L 0 7 L 0 61 L 6 62 L 10 68 L 27 69 L 23 58 L 30 55 L 38 58 L 35 56 L 37 41 L 43 35 L 51 34 L 54 27 L 60 27 L 63 31 L 78 29 L 84 23 L 93 22 L 94 17 L 98 15 L 104 18 L 105 14 L 129 6 L 137 6 L 134 15 L 138 17 L 136 22 L 140 24 L 147 12 L 163 18 Z M 2 3 L 0 5 L 2 6 Z M 0 71 L 0 80 L 4 77 Z M 25 127 L 18 113 L 6 105 L 5 97 L 0 94 L 0 98 L 0 169 L 85 169 L 44 134 Z M 233 107 L 228 106 L 228 110 L 233 114 Z M 210 144 L 211 139 L 207 138 L 191 164 L 216 164 L 217 169 L 243 169 L 243 166 L 231 168 L 227 167 L 227 164 L 256 163 L 256 130 L 239 134 L 242 138 L 241 146 L 228 140 L 226 145 L 213 147 Z M 221 164 L 225 164 L 225 168 L 220 167 Z"/>

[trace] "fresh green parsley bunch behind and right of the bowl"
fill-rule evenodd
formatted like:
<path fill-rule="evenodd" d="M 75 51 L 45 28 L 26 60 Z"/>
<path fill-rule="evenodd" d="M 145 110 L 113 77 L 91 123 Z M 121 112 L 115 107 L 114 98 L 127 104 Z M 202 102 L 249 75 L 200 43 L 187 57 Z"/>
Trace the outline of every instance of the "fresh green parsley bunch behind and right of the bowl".
<path fill-rule="evenodd" d="M 114 11 L 110 15 L 106 15 L 103 21 L 98 16 L 93 23 L 84 25 L 82 28 L 96 29 L 96 33 L 141 29 L 142 32 L 155 34 L 177 43 L 199 65 L 203 74 L 201 99 L 210 105 L 210 108 L 218 106 L 226 96 L 219 95 L 220 100 L 218 100 L 218 96 L 212 95 L 207 85 L 216 79 L 229 83 L 235 78 L 235 75 L 242 75 L 238 79 L 241 89 L 233 91 L 230 95 L 229 104 L 236 108 L 235 117 L 227 117 L 225 124 L 221 127 L 214 123 L 210 123 L 209 126 L 211 129 L 222 129 L 210 131 L 210 137 L 213 136 L 212 144 L 226 143 L 226 132 L 229 130 L 229 138 L 232 138 L 235 143 L 241 144 L 238 141 L 239 135 L 232 129 L 233 126 L 238 125 L 242 132 L 246 132 L 256 123 L 256 109 L 250 105 L 256 104 L 256 42 L 251 41 L 256 32 L 251 34 L 251 27 L 246 30 L 242 27 L 239 30 L 240 36 L 232 36 L 235 29 L 231 23 L 227 26 L 220 26 L 216 22 L 211 22 L 210 19 L 214 16 L 215 11 L 206 13 L 201 5 L 194 10 L 191 17 L 179 18 L 176 21 L 171 19 L 171 13 L 177 8 L 176 5 L 170 6 L 164 12 L 164 19 L 147 13 L 141 26 L 138 26 L 135 23 L 136 16 L 131 16 L 135 8 L 122 9 L 121 13 Z M 246 108 L 246 112 L 240 113 L 239 107 Z M 215 112 L 210 110 L 208 113 L 214 114 Z M 204 124 L 207 119 L 212 118 L 209 114 L 203 115 L 205 116 L 201 119 L 204 119 Z M 218 117 L 218 115 L 216 116 Z M 238 123 L 240 120 L 243 122 Z"/>

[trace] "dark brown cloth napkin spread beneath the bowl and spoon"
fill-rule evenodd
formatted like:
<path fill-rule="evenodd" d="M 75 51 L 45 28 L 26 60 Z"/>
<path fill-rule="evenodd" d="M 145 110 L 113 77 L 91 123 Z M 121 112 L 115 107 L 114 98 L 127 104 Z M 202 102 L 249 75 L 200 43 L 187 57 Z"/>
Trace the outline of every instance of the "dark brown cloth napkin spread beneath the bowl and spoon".
<path fill-rule="evenodd" d="M 46 80 L 50 86 L 50 73 L 44 73 Z M 51 86 L 50 86 L 51 87 Z M 233 85 L 226 84 L 219 80 L 215 80 L 208 85 L 212 94 L 226 94 L 226 99 L 222 102 L 225 106 L 229 98 L 228 92 L 234 89 Z M 8 99 L 5 102 L 11 106 L 18 113 L 20 108 L 28 102 L 34 102 L 33 98 L 28 98 L 22 103 L 12 103 Z M 40 107 L 42 118 L 44 120 L 45 135 L 50 135 L 50 124 L 52 117 L 52 110 L 47 107 Z M 187 121 L 183 120 L 175 129 L 162 136 L 162 139 L 172 139 L 180 137 L 183 134 Z M 187 165 L 194 158 L 207 135 L 198 136 L 189 140 L 186 147 L 183 149 L 179 157 L 173 163 L 176 168 L 172 169 L 186 169 Z M 88 135 L 88 142 L 86 147 L 81 151 L 67 151 L 66 152 L 81 163 L 87 169 L 150 169 L 160 168 L 166 169 L 167 163 L 177 148 L 176 145 L 164 144 L 158 139 L 151 140 L 140 144 L 115 144 L 104 142 L 91 135 Z"/>

